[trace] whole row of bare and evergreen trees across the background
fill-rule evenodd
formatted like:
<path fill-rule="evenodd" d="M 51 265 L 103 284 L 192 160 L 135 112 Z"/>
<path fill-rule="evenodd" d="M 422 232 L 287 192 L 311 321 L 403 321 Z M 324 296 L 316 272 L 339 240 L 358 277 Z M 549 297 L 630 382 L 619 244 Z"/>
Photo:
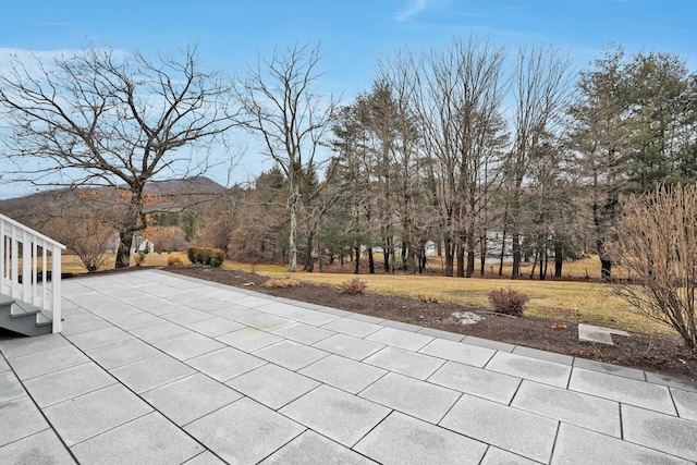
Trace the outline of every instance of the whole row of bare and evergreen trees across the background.
<path fill-rule="evenodd" d="M 576 71 L 553 46 L 455 38 L 380 57 L 371 88 L 343 103 L 321 93 L 321 58 L 295 44 L 234 76 L 204 71 L 195 49 L 15 58 L 0 73 L 4 176 L 127 186 L 123 266 L 156 212 L 145 185 L 222 170 L 211 145 L 244 130 L 274 167 L 198 220 L 199 241 L 230 256 L 420 272 L 432 244 L 447 276 L 484 273 L 488 257 L 501 272 L 510 254 L 512 278 L 527 259 L 545 279 L 595 252 L 610 279 L 623 198 L 696 175 L 697 75 L 673 53 L 608 46 Z"/>

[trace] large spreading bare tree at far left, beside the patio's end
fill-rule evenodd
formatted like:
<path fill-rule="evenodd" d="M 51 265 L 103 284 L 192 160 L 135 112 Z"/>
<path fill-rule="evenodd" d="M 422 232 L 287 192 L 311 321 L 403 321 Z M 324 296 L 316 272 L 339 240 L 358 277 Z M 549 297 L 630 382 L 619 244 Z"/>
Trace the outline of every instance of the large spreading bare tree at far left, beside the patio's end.
<path fill-rule="evenodd" d="M 147 225 L 146 185 L 206 172 L 213 142 L 235 124 L 229 79 L 203 70 L 195 47 L 150 59 L 89 46 L 51 60 L 13 56 L 1 70 L 15 167 L 5 175 L 124 188 L 117 268 L 129 266 L 133 235 Z"/>

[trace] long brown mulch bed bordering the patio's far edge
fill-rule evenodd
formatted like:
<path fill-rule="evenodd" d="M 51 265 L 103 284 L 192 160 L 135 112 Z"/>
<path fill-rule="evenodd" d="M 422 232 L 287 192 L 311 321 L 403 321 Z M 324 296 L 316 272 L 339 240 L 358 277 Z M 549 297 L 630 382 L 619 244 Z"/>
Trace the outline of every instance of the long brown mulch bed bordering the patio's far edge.
<path fill-rule="evenodd" d="M 634 332 L 631 333 L 631 338 L 613 336 L 615 345 L 612 346 L 594 344 L 579 342 L 578 325 L 568 321 L 511 318 L 492 315 L 484 311 L 484 308 L 425 303 L 370 292 L 346 294 L 335 287 L 309 283 L 302 283 L 296 287 L 264 287 L 261 284 L 269 279 L 267 277 L 219 268 L 167 267 L 166 270 L 279 297 L 687 378 L 697 382 L 697 354 L 686 350 L 680 338 Z M 452 317 L 455 311 L 473 311 L 484 319 L 474 325 L 463 326 Z"/>

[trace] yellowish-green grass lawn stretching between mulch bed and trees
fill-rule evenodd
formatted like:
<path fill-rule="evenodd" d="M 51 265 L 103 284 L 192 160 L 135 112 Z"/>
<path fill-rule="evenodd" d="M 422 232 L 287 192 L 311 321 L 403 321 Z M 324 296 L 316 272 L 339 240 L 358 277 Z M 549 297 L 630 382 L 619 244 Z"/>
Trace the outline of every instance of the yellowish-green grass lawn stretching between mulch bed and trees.
<path fill-rule="evenodd" d="M 185 253 L 178 254 L 186 265 Z M 166 266 L 168 254 L 148 254 L 144 266 Z M 113 267 L 113 259 L 109 257 L 105 268 Z M 134 266 L 132 256 L 132 266 Z M 227 260 L 225 268 L 254 271 L 272 278 L 285 278 L 289 272 L 284 266 L 240 264 Z M 564 277 L 598 278 L 600 274 L 598 259 L 588 258 L 575 262 L 564 264 Z M 346 269 L 352 269 L 346 265 Z M 531 266 L 523 267 L 523 274 L 529 274 Z M 498 271 L 498 266 L 494 266 Z M 526 272 L 527 271 L 527 272 Z M 63 257 L 63 272 L 85 272 L 84 267 L 74 256 Z M 504 274 L 510 272 L 510 266 L 504 267 Z M 626 277 L 622 269 L 613 270 L 616 276 Z M 339 286 L 342 282 L 354 278 L 348 273 L 307 273 L 296 272 L 293 276 L 302 282 Z M 659 325 L 636 314 L 620 297 L 613 294 L 609 284 L 582 281 L 530 281 L 527 279 L 512 281 L 508 279 L 482 278 L 445 278 L 440 276 L 418 274 L 360 274 L 367 281 L 368 292 L 409 296 L 414 298 L 429 297 L 438 302 L 450 302 L 464 305 L 490 307 L 488 293 L 496 289 L 511 287 L 530 297 L 526 307 L 526 315 L 536 318 L 550 318 L 563 321 L 585 322 L 608 328 L 623 329 L 638 332 L 671 333 L 668 327 Z"/>

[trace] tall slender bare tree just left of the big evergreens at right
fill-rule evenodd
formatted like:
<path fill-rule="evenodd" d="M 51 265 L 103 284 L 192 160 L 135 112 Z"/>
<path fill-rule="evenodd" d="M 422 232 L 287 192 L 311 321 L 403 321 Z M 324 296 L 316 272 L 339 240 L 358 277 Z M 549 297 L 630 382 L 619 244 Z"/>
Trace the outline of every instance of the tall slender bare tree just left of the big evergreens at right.
<path fill-rule="evenodd" d="M 511 236 L 513 244 L 512 279 L 521 274 L 521 198 L 523 182 L 531 155 L 554 133 L 561 121 L 572 89 L 571 60 L 553 47 L 531 47 L 518 50 L 513 76 L 514 114 L 513 148 L 509 173 L 512 182 Z"/>

